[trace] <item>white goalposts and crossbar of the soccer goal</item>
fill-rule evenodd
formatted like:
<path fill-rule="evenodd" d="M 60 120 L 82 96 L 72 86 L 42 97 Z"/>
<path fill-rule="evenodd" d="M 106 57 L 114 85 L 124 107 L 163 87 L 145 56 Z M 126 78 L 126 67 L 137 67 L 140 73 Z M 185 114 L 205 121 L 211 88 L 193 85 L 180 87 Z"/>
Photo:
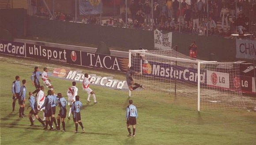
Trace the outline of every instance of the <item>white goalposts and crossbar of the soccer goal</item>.
<path fill-rule="evenodd" d="M 211 64 L 215 63 L 217 61 L 199 61 L 199 60 L 191 60 L 186 58 L 176 58 L 176 57 L 170 57 L 170 56 L 164 56 L 164 55 L 158 55 L 158 54 L 151 54 L 145 52 L 147 50 L 129 50 L 129 64 L 128 67 L 132 66 L 132 53 L 139 53 L 139 54 L 145 54 L 148 56 L 154 56 L 154 57 L 161 57 L 165 59 L 169 59 L 172 61 L 180 61 L 180 62 L 191 62 L 197 64 L 197 74 L 200 74 L 200 65 L 201 64 Z M 131 97 L 132 92 L 129 90 L 129 97 Z M 197 77 L 197 111 L 200 112 L 200 77 Z"/>

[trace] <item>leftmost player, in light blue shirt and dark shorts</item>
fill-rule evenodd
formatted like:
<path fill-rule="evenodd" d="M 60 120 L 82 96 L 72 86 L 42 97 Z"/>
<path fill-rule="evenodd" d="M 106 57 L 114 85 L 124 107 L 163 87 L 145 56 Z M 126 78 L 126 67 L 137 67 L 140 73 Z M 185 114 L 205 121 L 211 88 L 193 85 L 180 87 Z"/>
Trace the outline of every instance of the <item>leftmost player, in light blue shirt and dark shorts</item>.
<path fill-rule="evenodd" d="M 20 92 L 20 78 L 19 76 L 15 76 L 15 81 L 12 82 L 11 85 L 11 92 L 12 92 L 12 112 L 15 110 L 16 100 L 19 99 L 19 92 Z"/>

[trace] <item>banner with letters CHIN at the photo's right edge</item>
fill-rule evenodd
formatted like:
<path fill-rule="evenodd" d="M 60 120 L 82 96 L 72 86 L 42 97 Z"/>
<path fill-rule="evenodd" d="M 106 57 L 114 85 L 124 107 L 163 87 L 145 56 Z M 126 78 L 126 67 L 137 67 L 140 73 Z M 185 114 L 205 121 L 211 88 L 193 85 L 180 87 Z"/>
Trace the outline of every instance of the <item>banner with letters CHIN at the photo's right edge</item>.
<path fill-rule="evenodd" d="M 256 60 L 256 41 L 254 40 L 236 40 L 237 55 L 236 58 Z"/>

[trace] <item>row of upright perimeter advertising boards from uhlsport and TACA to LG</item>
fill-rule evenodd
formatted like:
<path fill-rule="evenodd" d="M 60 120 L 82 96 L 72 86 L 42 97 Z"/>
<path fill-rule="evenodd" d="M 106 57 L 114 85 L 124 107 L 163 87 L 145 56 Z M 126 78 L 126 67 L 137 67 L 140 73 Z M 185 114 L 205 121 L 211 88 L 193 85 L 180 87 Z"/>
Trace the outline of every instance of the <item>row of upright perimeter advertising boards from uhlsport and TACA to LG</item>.
<path fill-rule="evenodd" d="M 45 43 L 46 44 L 46 43 Z M 110 71 L 126 72 L 128 66 L 127 57 L 97 54 L 92 52 L 78 51 L 74 48 L 65 49 L 49 47 L 31 43 L 0 40 L 0 54 L 36 58 L 40 60 L 81 65 L 91 68 L 107 69 Z M 198 74 L 196 69 L 186 69 L 175 65 L 166 65 L 160 62 L 148 61 L 142 66 L 135 66 L 141 69 L 143 75 L 161 77 L 165 79 L 177 79 L 181 82 L 196 83 Z M 200 71 L 200 83 L 210 87 L 220 87 L 226 90 L 242 90 L 244 93 L 256 94 L 256 84 L 253 74 L 253 66 L 250 63 L 240 65 L 240 76 L 233 76 L 224 72 Z M 241 87 L 241 89 L 240 89 Z"/>

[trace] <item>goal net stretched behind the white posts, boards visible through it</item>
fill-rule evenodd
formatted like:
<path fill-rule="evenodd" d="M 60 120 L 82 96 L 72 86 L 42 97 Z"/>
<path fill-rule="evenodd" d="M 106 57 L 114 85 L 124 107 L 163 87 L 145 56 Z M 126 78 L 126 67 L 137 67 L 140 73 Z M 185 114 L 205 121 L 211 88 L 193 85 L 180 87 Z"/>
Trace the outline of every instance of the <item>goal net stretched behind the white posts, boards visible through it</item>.
<path fill-rule="evenodd" d="M 198 111 L 256 106 L 243 97 L 239 64 L 233 62 L 207 62 L 173 49 L 130 50 L 129 66 L 140 73 L 133 76 L 135 83 L 146 88 L 129 91 L 130 96 L 173 94 L 193 100 Z"/>

